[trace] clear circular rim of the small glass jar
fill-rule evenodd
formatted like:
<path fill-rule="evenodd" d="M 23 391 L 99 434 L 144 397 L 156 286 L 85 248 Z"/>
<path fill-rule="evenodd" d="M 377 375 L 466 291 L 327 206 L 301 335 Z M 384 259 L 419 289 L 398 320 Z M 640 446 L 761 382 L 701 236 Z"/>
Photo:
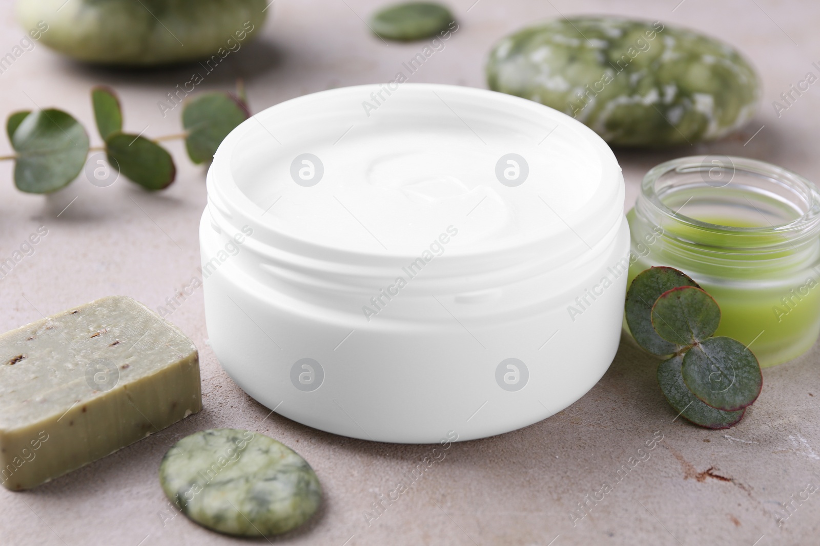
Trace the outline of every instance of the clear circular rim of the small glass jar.
<path fill-rule="evenodd" d="M 769 178 L 773 181 L 777 181 L 777 183 L 780 183 L 782 186 L 788 187 L 791 192 L 802 196 L 805 201 L 805 210 L 790 222 L 751 228 L 727 226 L 695 219 L 686 214 L 680 214 L 682 206 L 678 210 L 672 210 L 671 207 L 663 202 L 661 196 L 658 195 L 656 187 L 658 180 L 665 174 L 672 172 L 689 174 L 715 169 L 716 167 L 710 162 L 710 158 L 722 163 L 722 165 L 719 165 L 719 168 L 730 170 L 732 177 L 738 172 L 744 172 L 757 176 L 758 178 Z M 728 187 L 729 184 L 731 184 L 731 180 L 722 187 Z M 658 213 L 667 219 L 674 219 L 676 222 L 688 224 L 693 228 L 707 229 L 712 232 L 723 232 L 736 237 L 742 237 L 745 234 L 758 236 L 771 233 L 781 233 L 784 235 L 786 233 L 792 233 L 799 237 L 804 234 L 817 235 L 818 232 L 820 232 L 820 192 L 818 192 L 818 188 L 808 179 L 788 169 L 783 169 L 777 165 L 747 157 L 716 155 L 686 156 L 666 161 L 649 169 L 645 174 L 641 183 L 639 201 L 641 201 L 640 197 L 643 197 L 645 203 L 651 204 Z"/>

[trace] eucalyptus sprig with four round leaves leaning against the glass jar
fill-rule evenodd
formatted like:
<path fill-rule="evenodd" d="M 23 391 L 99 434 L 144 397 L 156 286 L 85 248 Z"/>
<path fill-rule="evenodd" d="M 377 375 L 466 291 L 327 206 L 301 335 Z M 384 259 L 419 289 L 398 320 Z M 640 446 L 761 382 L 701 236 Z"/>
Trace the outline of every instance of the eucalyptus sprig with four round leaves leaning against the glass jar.
<path fill-rule="evenodd" d="M 720 307 L 698 283 L 674 268 L 639 273 L 626 292 L 626 324 L 647 352 L 665 357 L 658 384 L 667 401 L 699 426 L 736 425 L 763 386 L 748 346 L 714 336 Z"/>

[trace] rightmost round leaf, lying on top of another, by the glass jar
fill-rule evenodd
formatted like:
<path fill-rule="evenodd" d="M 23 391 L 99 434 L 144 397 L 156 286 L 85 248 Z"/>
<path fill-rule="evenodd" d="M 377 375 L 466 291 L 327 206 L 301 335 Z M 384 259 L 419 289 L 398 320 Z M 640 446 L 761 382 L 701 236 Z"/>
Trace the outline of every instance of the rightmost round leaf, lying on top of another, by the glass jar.
<path fill-rule="evenodd" d="M 758 398 L 763 374 L 758 359 L 731 337 L 709 337 L 683 359 L 683 381 L 692 394 L 713 408 L 733 412 Z"/>

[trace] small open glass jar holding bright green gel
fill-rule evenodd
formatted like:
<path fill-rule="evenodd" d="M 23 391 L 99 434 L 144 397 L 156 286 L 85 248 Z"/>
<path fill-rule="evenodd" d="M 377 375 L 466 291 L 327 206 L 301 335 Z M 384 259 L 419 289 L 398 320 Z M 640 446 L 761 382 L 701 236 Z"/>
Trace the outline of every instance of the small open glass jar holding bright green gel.
<path fill-rule="evenodd" d="M 795 359 L 820 332 L 820 193 L 798 174 L 742 157 L 667 161 L 644 177 L 629 282 L 680 269 L 721 308 L 716 336 L 749 345 L 764 368 Z"/>

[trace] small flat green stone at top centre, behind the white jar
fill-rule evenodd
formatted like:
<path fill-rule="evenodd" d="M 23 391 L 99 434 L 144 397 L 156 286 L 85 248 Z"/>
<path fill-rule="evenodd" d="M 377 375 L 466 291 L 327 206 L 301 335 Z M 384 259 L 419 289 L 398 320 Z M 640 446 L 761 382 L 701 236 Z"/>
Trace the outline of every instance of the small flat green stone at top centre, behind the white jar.
<path fill-rule="evenodd" d="M 453 14 L 440 4 L 407 2 L 376 11 L 370 26 L 382 38 L 407 42 L 438 34 L 452 22 Z"/>

